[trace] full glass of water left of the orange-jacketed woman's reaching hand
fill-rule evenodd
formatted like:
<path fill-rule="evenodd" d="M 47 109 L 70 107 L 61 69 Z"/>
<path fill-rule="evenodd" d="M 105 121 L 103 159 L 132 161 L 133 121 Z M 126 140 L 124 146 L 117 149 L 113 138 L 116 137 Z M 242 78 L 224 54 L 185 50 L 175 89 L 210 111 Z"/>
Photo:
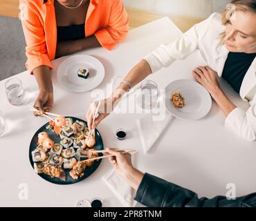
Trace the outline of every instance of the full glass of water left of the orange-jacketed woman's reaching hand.
<path fill-rule="evenodd" d="M 18 78 L 11 78 L 6 81 L 6 96 L 10 104 L 19 106 L 26 103 L 28 95 L 22 87 L 22 82 Z"/>

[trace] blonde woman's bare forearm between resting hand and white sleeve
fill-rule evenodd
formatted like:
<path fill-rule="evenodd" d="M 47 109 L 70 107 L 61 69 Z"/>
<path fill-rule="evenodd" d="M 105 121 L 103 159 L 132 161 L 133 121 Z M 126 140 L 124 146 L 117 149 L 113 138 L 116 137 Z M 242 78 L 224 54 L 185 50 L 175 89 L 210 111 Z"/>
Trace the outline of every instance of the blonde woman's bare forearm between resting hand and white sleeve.
<path fill-rule="evenodd" d="M 221 88 L 216 90 L 214 93 L 211 93 L 211 95 L 223 113 L 226 115 L 226 117 L 231 113 L 231 111 L 237 108 L 237 106 L 235 106 L 235 104 L 233 104 L 230 99 L 228 99 L 228 97 L 223 93 Z"/>

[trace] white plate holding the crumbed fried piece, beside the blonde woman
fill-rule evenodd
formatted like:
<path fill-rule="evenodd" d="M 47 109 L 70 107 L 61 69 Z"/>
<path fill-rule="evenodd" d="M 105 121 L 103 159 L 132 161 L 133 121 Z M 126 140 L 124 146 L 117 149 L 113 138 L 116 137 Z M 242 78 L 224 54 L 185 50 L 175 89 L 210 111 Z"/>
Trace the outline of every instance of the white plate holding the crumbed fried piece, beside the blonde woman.
<path fill-rule="evenodd" d="M 172 93 L 179 91 L 185 99 L 183 108 L 176 108 L 172 102 Z M 196 120 L 205 117 L 212 107 L 212 98 L 208 91 L 196 81 L 181 79 L 173 81 L 165 88 L 165 105 L 179 119 Z"/>

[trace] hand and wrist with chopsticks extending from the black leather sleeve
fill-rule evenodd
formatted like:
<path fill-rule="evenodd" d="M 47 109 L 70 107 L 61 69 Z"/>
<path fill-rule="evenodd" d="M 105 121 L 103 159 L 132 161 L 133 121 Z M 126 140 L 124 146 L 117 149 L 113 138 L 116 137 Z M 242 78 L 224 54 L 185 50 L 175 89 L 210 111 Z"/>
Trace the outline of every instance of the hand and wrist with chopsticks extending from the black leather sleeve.
<path fill-rule="evenodd" d="M 134 166 L 132 166 L 131 154 L 122 153 L 111 148 L 107 148 L 107 151 L 109 153 L 106 154 L 113 155 L 113 157 L 109 157 L 109 161 L 113 165 L 116 173 L 126 180 L 132 188 L 137 190 L 138 186 L 140 186 L 140 182 L 143 180 L 144 173 L 138 171 Z"/>

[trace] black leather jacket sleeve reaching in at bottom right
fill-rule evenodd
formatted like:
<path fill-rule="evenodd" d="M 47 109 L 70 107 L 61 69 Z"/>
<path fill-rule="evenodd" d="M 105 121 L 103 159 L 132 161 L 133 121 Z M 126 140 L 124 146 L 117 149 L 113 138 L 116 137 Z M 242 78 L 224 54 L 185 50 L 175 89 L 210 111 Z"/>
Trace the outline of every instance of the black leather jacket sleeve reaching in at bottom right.
<path fill-rule="evenodd" d="M 188 189 L 145 173 L 135 200 L 150 207 L 252 207 L 256 206 L 256 193 L 236 200 L 227 200 L 225 196 L 199 199 Z"/>

